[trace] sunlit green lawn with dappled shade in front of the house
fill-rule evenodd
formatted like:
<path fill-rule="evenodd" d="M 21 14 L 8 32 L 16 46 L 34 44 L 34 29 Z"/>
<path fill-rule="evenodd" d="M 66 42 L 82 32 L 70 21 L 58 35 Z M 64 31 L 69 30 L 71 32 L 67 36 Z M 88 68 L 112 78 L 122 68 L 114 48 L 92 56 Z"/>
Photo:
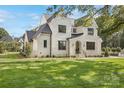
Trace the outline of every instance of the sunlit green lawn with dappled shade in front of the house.
<path fill-rule="evenodd" d="M 124 58 L 0 58 L 0 87 L 124 87 Z"/>

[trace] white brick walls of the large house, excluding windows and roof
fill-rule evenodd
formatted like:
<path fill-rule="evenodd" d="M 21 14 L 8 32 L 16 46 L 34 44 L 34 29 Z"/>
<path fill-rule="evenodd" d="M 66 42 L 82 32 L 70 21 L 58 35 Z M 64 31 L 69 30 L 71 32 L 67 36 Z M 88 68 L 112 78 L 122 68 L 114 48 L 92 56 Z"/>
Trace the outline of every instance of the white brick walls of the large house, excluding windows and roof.
<path fill-rule="evenodd" d="M 47 22 L 43 17 L 44 24 Z M 45 56 L 77 56 L 76 42 L 80 42 L 80 53 L 78 56 L 98 56 L 101 55 L 101 38 L 97 35 L 97 25 L 95 21 L 91 27 L 75 27 L 76 33 L 83 33 L 80 36 L 72 37 L 72 29 L 74 27 L 74 19 L 57 16 L 53 18 L 48 25 L 52 34 L 40 33 L 36 38 L 33 38 L 32 56 L 45 57 Z M 66 26 L 66 33 L 58 31 L 58 25 Z M 94 29 L 94 35 L 88 35 L 87 28 Z M 72 38 L 71 38 L 72 37 Z M 44 40 L 47 40 L 47 48 L 44 48 Z M 66 50 L 58 49 L 58 41 L 66 41 Z M 86 42 L 95 42 L 95 50 L 87 50 Z"/>

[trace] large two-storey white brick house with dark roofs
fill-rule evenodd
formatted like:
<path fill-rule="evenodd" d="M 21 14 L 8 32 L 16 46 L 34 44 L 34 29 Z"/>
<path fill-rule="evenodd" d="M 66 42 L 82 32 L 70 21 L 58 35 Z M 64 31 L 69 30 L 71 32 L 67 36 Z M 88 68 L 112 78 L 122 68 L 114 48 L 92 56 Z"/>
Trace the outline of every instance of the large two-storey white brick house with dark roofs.
<path fill-rule="evenodd" d="M 75 20 L 62 16 L 43 15 L 36 31 L 27 31 L 24 43 L 32 44 L 33 57 L 99 56 L 102 39 L 93 20 L 88 27 L 75 26 Z"/>

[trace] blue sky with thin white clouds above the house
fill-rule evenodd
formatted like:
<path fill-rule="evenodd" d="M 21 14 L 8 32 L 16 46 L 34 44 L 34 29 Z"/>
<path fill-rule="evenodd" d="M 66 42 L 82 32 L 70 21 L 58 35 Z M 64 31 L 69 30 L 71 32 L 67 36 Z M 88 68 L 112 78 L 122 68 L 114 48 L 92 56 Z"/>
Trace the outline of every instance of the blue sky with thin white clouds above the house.
<path fill-rule="evenodd" d="M 5 28 L 13 37 L 22 36 L 40 24 L 41 16 L 47 13 L 46 5 L 0 5 L 0 27 Z M 74 11 L 71 18 L 79 18 L 81 13 Z"/>

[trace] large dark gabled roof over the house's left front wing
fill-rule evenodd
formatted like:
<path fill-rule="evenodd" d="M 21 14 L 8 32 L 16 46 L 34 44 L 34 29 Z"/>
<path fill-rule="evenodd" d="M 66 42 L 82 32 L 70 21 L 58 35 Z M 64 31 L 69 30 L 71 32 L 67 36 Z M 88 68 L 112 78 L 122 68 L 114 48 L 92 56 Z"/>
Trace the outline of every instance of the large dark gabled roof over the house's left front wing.
<path fill-rule="evenodd" d="M 39 27 L 33 38 L 37 37 L 40 33 L 52 34 L 52 31 L 47 23 Z"/>

